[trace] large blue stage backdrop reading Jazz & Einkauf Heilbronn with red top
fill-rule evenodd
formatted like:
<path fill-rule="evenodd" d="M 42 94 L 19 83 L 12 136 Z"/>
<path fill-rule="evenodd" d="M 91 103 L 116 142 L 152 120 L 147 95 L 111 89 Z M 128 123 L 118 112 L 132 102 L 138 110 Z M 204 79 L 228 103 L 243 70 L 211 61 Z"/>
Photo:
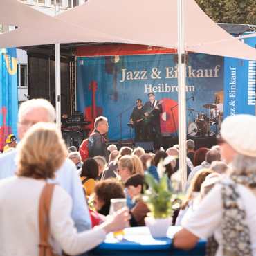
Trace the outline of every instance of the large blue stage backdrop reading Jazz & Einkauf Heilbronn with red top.
<path fill-rule="evenodd" d="M 109 139 L 120 140 L 122 129 L 122 140 L 126 140 L 130 138 L 127 123 L 133 110 L 131 106 L 135 107 L 137 98 L 145 104 L 147 93 L 153 92 L 156 100 L 163 100 L 161 131 L 179 135 L 179 86 L 174 54 L 173 49 L 139 45 L 77 48 L 77 110 L 92 122 L 97 116 L 106 116 Z M 203 105 L 214 104 L 215 95 L 219 95 L 223 102 L 226 70 L 224 57 L 189 55 L 186 68 L 187 127 L 200 113 L 209 116 L 209 109 Z M 131 137 L 134 138 L 134 134 Z"/>

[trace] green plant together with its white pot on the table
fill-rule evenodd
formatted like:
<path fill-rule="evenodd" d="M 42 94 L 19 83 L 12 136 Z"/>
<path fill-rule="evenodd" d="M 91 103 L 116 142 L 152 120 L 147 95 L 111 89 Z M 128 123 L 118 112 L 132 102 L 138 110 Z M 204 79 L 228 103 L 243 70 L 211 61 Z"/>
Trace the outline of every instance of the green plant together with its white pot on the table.
<path fill-rule="evenodd" d="M 166 237 L 167 230 L 172 225 L 172 214 L 179 207 L 178 198 L 181 195 L 174 192 L 174 184 L 171 184 L 165 172 L 165 165 L 170 163 L 172 156 L 160 161 L 157 166 L 159 181 L 152 174 L 145 172 L 145 180 L 149 188 L 144 191 L 143 201 L 147 204 L 150 213 L 145 217 L 145 224 L 153 237 Z M 172 186 L 173 185 L 173 186 Z"/>

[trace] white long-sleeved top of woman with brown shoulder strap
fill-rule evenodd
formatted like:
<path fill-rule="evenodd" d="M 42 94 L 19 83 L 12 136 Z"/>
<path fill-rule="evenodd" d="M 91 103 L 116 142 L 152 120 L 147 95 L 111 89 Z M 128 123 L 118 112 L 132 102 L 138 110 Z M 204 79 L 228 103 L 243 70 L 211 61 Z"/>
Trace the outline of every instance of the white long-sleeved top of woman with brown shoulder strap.
<path fill-rule="evenodd" d="M 45 183 L 12 176 L 0 180 L 0 255 L 39 254 L 39 198 Z M 78 254 L 98 246 L 106 232 L 94 228 L 77 233 L 71 219 L 72 200 L 55 185 L 50 209 L 50 244 L 55 253 L 62 249 Z"/>

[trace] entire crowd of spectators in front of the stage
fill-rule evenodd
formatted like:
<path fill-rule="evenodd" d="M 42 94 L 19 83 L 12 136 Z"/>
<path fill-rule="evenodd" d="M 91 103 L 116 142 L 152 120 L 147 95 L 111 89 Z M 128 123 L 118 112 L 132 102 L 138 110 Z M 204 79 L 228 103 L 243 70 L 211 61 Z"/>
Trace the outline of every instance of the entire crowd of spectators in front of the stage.
<path fill-rule="evenodd" d="M 109 126 L 102 116 L 95 119 L 82 161 L 79 149 L 66 147 L 54 122 L 55 109 L 47 100 L 28 100 L 19 108 L 20 142 L 0 156 L 0 255 L 39 254 L 39 201 L 46 183 L 58 184 L 49 243 L 57 254 L 75 255 L 98 246 L 109 232 L 145 226 L 150 212 L 141 197 L 148 188 L 145 171 L 159 180 L 158 163 L 172 156 L 164 174 L 171 186 L 179 170 L 179 145 L 149 153 L 107 147 L 103 135 Z M 192 248 L 203 238 L 208 252 L 217 255 L 256 253 L 254 124 L 255 116 L 226 118 L 219 145 L 210 149 L 195 150 L 194 141 L 187 140 L 185 199 L 173 221 L 183 226 L 174 235 L 177 248 Z M 113 198 L 126 198 L 127 208 L 107 218 Z"/>

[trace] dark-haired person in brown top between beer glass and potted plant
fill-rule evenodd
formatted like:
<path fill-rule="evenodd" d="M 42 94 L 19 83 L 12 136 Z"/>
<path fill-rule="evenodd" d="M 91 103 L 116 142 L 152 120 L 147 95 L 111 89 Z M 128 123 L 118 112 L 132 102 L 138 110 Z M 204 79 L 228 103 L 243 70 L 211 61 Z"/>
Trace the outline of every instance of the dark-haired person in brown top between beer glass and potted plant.
<path fill-rule="evenodd" d="M 145 177 L 140 174 L 134 174 L 125 181 L 125 188 L 130 198 L 136 200 L 136 205 L 131 209 L 131 214 L 138 223 L 138 226 L 145 226 L 144 218 L 150 212 L 147 205 L 139 198 L 143 193 L 143 188 L 148 188 Z"/>

